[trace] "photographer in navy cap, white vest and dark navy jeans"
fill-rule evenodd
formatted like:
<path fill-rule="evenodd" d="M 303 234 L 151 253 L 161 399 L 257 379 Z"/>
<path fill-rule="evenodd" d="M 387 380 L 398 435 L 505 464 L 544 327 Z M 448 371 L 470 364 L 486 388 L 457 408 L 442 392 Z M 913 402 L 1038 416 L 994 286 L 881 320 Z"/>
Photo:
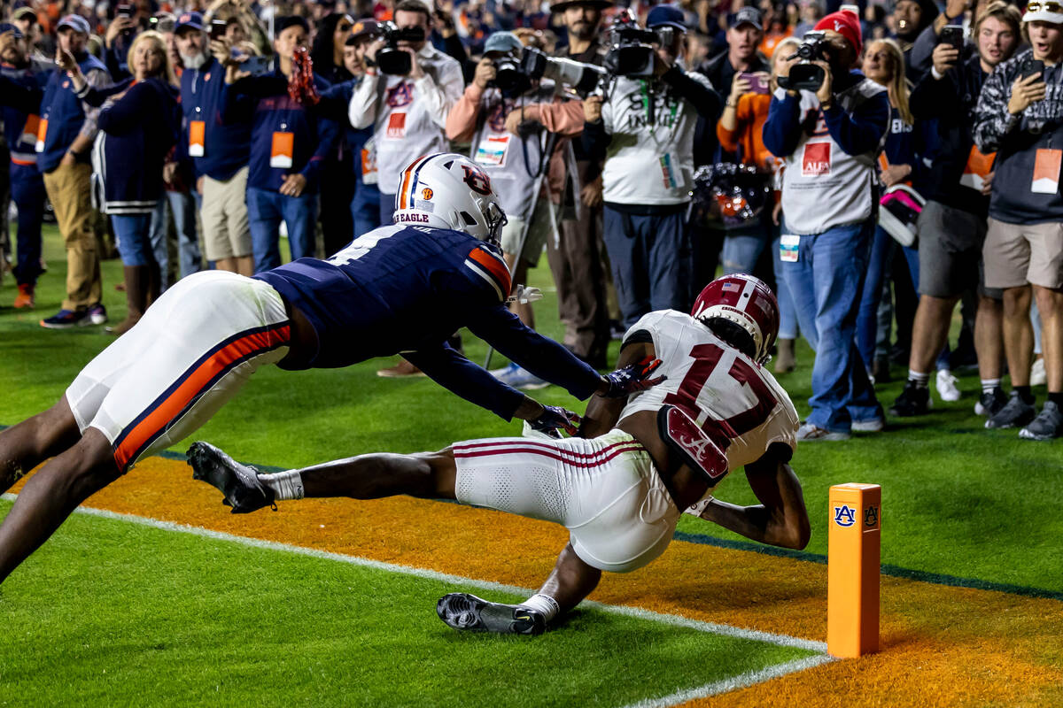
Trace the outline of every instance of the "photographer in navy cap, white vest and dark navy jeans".
<path fill-rule="evenodd" d="M 698 116 L 719 115 L 721 104 L 705 76 L 676 63 L 682 12 L 657 5 L 646 25 L 619 16 L 605 58 L 615 76 L 609 96 L 584 101 L 584 146 L 605 153 L 605 244 L 628 327 L 652 310 L 689 305 L 694 127 Z"/>

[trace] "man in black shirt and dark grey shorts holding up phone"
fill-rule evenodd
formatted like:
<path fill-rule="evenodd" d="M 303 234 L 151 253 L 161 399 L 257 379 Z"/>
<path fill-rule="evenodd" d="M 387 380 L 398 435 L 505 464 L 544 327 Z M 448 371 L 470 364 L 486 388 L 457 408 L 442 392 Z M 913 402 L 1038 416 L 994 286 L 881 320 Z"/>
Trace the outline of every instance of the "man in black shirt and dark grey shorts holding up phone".
<path fill-rule="evenodd" d="M 916 120 L 934 121 L 938 153 L 925 185 L 918 220 L 919 304 L 912 327 L 908 383 L 890 409 L 894 415 L 925 414 L 934 358 L 948 336 L 952 310 L 968 290 L 978 293 L 975 350 L 982 394 L 977 411 L 994 415 L 1007 402 L 1000 388 L 1003 351 L 999 289 L 986 288 L 982 265 L 989 217 L 993 154 L 975 146 L 972 128 L 982 84 L 1020 41 L 1020 15 L 1013 5 L 992 2 L 974 24 L 977 51 L 962 56 L 945 37 L 933 50 L 933 68 L 912 91 Z"/>

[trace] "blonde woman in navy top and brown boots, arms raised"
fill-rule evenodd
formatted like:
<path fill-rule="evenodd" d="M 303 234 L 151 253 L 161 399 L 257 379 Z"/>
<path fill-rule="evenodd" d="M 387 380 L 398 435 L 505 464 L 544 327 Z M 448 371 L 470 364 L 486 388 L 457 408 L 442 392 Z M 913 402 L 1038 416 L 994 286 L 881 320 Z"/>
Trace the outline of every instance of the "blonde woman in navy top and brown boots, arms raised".
<path fill-rule="evenodd" d="M 181 127 L 178 89 L 163 35 L 137 35 L 128 61 L 132 79 L 97 89 L 85 82 L 72 56 L 56 56 L 79 98 L 103 106 L 92 149 L 94 177 L 102 183 L 101 210 L 111 217 L 118 239 L 129 301 L 125 320 L 107 328 L 115 335 L 130 330 L 158 295 L 151 214 L 164 197 L 163 165 Z"/>

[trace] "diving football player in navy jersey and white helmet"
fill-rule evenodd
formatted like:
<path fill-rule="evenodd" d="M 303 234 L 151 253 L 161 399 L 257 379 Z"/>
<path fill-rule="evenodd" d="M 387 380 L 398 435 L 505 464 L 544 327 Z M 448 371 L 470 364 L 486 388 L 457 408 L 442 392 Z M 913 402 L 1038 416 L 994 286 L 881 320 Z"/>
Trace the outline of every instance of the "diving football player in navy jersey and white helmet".
<path fill-rule="evenodd" d="M 0 432 L 0 491 L 51 457 L 0 525 L 0 581 L 78 504 L 198 429 L 265 364 L 337 367 L 401 352 L 459 396 L 551 431 L 575 431 L 575 414 L 509 388 L 446 338 L 469 327 L 579 399 L 643 385 L 631 372 L 598 375 L 506 309 L 509 273 L 495 245 L 506 217 L 475 162 L 424 156 L 401 186 L 395 224 L 328 260 L 182 279 L 55 405 Z"/>

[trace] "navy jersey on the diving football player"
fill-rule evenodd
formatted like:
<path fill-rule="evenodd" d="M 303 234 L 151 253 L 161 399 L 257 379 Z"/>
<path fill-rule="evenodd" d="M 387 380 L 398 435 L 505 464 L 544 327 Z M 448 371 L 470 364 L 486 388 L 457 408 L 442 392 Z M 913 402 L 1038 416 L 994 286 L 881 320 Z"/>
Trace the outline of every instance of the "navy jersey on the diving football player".
<path fill-rule="evenodd" d="M 254 276 L 313 325 L 318 349 L 293 368 L 403 353 L 459 396 L 509 418 L 523 395 L 449 348 L 461 327 L 537 376 L 587 398 L 600 377 L 505 307 L 509 272 L 493 246 L 460 231 L 382 226 L 327 260 L 300 258 Z"/>

